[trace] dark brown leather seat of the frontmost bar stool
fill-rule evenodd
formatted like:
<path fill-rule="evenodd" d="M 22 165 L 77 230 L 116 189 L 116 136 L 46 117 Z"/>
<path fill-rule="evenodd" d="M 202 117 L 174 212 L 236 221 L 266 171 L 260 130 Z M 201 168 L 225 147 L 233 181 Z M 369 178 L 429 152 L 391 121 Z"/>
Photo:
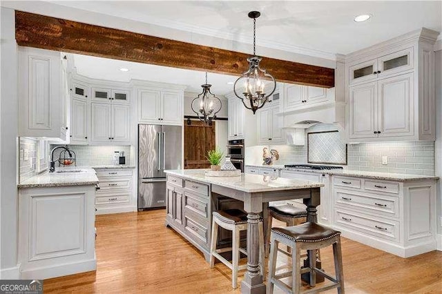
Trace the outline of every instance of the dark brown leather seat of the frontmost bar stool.
<path fill-rule="evenodd" d="M 306 222 L 298 226 L 272 228 L 271 231 L 294 242 L 321 242 L 340 235 L 339 231 L 321 226 L 314 222 Z"/>

